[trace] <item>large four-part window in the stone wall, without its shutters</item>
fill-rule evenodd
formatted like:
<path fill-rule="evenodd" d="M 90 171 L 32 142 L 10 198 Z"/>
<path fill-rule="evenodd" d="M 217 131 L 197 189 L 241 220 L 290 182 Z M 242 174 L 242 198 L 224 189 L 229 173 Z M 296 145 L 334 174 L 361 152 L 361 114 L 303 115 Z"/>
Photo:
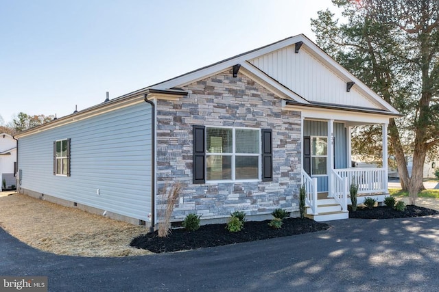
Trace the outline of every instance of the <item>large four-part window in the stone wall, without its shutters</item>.
<path fill-rule="evenodd" d="M 207 128 L 206 178 L 208 181 L 259 179 L 259 129 Z"/>

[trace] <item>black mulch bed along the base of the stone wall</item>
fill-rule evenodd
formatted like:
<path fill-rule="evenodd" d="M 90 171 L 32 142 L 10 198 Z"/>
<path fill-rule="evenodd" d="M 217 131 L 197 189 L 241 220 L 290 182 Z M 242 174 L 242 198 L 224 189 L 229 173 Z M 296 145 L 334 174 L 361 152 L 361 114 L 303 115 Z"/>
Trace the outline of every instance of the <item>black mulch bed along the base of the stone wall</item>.
<path fill-rule="evenodd" d="M 143 248 L 151 252 L 176 252 L 178 250 L 192 250 L 195 248 L 210 248 L 218 245 L 227 245 L 247 241 L 256 241 L 274 237 L 284 237 L 327 230 L 328 224 L 315 222 L 310 219 L 286 218 L 281 229 L 268 226 L 270 220 L 248 221 L 244 229 L 237 233 L 226 230 L 226 224 L 209 224 L 200 226 L 195 231 L 183 228 L 174 229 L 169 237 L 158 237 L 157 231 L 134 238 L 130 245 Z"/>

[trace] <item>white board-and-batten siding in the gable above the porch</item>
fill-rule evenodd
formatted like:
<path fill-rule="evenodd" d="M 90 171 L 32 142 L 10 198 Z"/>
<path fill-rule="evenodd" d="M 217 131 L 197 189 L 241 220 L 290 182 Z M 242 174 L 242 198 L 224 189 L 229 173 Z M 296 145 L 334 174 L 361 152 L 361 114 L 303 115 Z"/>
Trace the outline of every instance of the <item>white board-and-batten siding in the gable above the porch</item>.
<path fill-rule="evenodd" d="M 382 109 L 355 89 L 346 92 L 346 82 L 302 47 L 294 45 L 250 60 L 250 63 L 307 101 Z"/>

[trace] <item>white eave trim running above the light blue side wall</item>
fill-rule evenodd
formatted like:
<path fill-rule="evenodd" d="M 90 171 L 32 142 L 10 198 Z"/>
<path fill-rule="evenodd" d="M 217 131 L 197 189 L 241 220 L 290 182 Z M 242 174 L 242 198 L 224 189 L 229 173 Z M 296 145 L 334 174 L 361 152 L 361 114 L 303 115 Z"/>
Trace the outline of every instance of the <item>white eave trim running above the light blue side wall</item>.
<path fill-rule="evenodd" d="M 33 135 L 34 133 L 39 133 L 50 129 L 62 127 L 66 124 L 71 124 L 72 122 L 79 122 L 80 120 L 86 120 L 94 116 L 106 114 L 110 111 L 115 111 L 117 109 L 122 109 L 124 107 L 129 107 L 130 105 L 137 105 L 139 103 L 144 103 L 144 102 L 145 101 L 143 98 L 143 94 L 139 96 L 134 96 L 132 98 L 126 98 L 125 100 L 117 101 L 114 103 L 108 102 L 108 105 L 99 105 L 95 109 L 88 109 L 88 110 L 84 110 L 84 112 L 79 112 L 78 114 L 73 114 L 63 118 L 58 118 L 58 120 L 53 120 L 51 122 L 48 122 L 47 124 L 43 124 L 29 131 L 19 133 L 15 135 L 15 137 L 21 138 L 28 135 Z"/>

